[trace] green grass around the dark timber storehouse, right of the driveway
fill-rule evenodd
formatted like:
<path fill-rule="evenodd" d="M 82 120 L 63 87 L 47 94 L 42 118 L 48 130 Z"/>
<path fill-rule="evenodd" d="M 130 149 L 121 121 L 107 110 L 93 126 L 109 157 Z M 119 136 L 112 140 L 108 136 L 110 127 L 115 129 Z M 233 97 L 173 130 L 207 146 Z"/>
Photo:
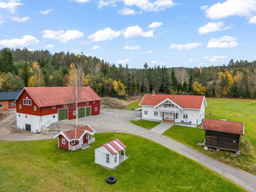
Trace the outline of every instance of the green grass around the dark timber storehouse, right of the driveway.
<path fill-rule="evenodd" d="M 218 161 L 256 175 L 256 127 L 253 124 L 256 122 L 256 100 L 207 98 L 207 105 L 208 107 L 205 108 L 206 118 L 244 122 L 245 136 L 241 136 L 241 156 L 234 157 L 232 153 L 225 151 L 218 153 L 211 150 L 206 151 L 202 146 L 196 145 L 196 143 L 204 141 L 205 131 L 201 129 L 175 125 L 164 132 L 164 135 L 195 148 Z"/>

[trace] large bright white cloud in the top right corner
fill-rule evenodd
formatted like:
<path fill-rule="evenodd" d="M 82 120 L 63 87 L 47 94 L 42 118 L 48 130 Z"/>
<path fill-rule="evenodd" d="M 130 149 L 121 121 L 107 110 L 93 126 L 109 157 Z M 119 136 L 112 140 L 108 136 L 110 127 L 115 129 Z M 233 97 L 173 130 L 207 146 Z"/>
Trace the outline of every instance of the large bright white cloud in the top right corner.
<path fill-rule="evenodd" d="M 255 0 L 227 0 L 205 9 L 206 17 L 210 19 L 224 19 L 234 15 L 250 18 L 255 11 Z"/>

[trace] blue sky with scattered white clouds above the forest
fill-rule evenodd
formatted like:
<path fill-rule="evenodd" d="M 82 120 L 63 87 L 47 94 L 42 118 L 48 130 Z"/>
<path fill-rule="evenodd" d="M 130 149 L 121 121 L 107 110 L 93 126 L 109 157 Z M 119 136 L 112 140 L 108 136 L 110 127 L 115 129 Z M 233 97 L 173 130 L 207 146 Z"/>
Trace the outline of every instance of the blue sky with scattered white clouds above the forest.
<path fill-rule="evenodd" d="M 0 49 L 88 54 L 141 68 L 256 59 L 256 0 L 0 0 Z"/>

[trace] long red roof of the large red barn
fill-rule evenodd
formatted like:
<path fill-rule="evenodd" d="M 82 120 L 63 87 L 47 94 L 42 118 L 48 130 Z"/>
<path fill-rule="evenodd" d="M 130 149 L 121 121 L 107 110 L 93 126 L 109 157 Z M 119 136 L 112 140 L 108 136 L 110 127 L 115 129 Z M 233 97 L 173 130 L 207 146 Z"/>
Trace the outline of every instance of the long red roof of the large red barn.
<path fill-rule="evenodd" d="M 75 87 L 26 87 L 24 89 L 29 93 L 39 108 L 76 102 Z M 77 102 L 101 100 L 89 86 L 77 87 L 77 93 Z"/>

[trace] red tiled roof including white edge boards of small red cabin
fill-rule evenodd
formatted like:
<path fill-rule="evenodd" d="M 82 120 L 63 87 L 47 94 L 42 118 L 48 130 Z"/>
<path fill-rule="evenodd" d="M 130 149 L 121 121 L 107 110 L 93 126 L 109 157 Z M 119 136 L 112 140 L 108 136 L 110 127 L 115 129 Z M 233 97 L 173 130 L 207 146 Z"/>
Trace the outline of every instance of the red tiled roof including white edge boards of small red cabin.
<path fill-rule="evenodd" d="M 56 136 L 54 136 L 54 139 L 57 138 L 58 136 L 62 135 L 68 141 L 80 140 L 86 133 L 94 134 L 95 131 L 89 125 L 83 125 L 81 127 L 77 127 L 74 129 L 69 129 L 67 131 L 60 132 L 60 133 L 56 134 Z"/>

